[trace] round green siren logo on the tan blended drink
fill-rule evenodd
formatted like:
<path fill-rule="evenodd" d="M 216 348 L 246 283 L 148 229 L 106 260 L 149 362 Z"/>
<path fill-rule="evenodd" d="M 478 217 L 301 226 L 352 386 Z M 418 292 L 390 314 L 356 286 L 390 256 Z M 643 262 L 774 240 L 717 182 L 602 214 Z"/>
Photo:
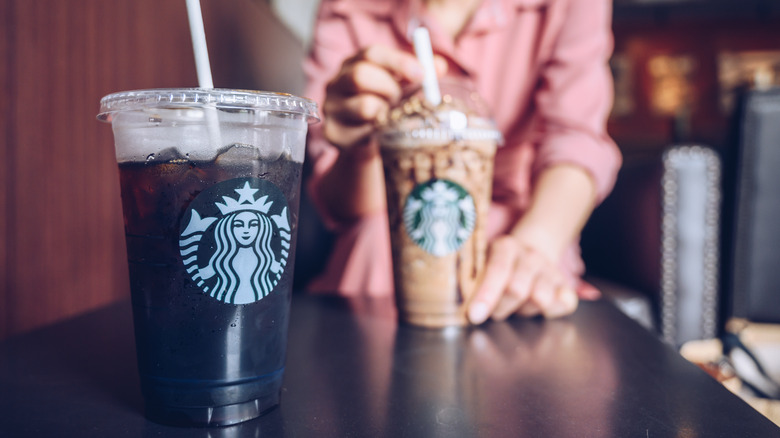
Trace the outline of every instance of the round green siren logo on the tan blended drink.
<path fill-rule="evenodd" d="M 437 256 L 457 251 L 474 231 L 474 199 L 445 179 L 420 184 L 406 198 L 403 221 L 409 237 Z"/>

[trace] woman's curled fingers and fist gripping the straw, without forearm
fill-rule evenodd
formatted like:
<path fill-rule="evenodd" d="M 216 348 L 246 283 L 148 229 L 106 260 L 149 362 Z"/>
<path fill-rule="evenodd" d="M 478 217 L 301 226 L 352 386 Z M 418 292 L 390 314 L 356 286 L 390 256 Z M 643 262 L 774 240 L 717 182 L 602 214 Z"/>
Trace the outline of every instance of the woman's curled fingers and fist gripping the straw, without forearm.
<path fill-rule="evenodd" d="M 386 46 L 348 58 L 326 87 L 325 138 L 342 151 L 369 143 L 376 121 L 401 99 L 404 86 L 420 83 L 422 76 L 413 54 Z"/>

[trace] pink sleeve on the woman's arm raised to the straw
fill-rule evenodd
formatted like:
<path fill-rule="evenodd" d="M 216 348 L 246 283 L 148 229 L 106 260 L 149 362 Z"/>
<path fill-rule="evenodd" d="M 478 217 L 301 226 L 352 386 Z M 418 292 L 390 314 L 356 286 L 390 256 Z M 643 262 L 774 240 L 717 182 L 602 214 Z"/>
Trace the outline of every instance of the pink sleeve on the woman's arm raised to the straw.
<path fill-rule="evenodd" d="M 307 81 L 304 95 L 317 102 L 321 113 L 328 81 L 336 75 L 344 59 L 357 52 L 347 18 L 339 9 L 338 1 L 323 0 L 320 4 L 309 56 L 304 62 Z M 306 153 L 312 169 L 306 189 L 325 225 L 332 230 L 340 228 L 344 224 L 334 219 L 317 190 L 338 156 L 338 150 L 323 138 L 322 123 L 309 126 Z"/>

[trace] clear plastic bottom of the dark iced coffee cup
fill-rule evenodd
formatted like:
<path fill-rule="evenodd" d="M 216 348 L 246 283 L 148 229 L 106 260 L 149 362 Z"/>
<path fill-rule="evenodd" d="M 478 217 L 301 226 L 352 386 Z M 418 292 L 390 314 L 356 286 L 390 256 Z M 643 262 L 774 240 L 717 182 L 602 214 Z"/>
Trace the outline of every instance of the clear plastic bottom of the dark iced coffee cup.
<path fill-rule="evenodd" d="M 243 423 L 271 411 L 279 405 L 280 394 L 272 394 L 225 406 L 179 407 L 146 404 L 149 420 L 168 426 L 230 426 Z"/>

